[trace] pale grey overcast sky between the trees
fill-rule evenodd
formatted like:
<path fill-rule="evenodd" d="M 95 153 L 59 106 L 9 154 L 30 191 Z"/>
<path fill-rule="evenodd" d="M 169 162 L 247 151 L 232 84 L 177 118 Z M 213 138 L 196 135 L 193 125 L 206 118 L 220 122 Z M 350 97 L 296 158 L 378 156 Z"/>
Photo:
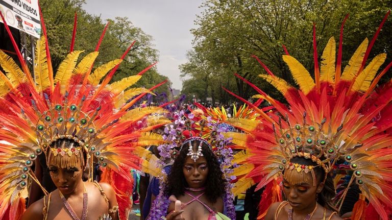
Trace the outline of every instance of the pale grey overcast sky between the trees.
<path fill-rule="evenodd" d="M 129 17 L 133 25 L 153 36 L 159 51 L 160 74 L 169 77 L 173 88 L 181 89 L 178 65 L 187 61 L 185 55 L 192 48 L 196 28 L 194 20 L 202 9 L 202 0 L 86 0 L 83 8 L 90 14 L 101 15 L 102 20 Z M 110 28 L 110 26 L 109 26 Z M 148 74 L 148 73 L 146 73 Z"/>

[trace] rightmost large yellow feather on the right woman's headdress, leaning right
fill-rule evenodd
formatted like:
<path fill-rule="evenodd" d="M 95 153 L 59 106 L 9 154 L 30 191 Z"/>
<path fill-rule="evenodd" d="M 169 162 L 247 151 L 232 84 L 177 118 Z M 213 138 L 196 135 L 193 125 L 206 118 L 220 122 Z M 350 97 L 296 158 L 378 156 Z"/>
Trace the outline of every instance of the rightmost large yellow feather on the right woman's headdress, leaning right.
<path fill-rule="evenodd" d="M 372 62 L 366 66 L 364 70 L 358 75 L 355 79 L 354 85 L 352 87 L 352 91 L 359 91 L 361 93 L 365 92 L 369 89 L 372 80 L 376 76 L 377 70 L 384 63 L 386 58 L 386 54 L 379 54 L 375 58 L 373 58 Z"/>

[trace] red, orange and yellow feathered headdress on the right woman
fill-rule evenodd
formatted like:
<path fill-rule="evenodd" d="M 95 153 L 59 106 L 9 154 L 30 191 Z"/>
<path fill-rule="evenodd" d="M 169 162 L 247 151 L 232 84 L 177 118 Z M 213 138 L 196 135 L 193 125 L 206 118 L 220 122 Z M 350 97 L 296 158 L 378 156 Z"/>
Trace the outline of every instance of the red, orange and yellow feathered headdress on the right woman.
<path fill-rule="evenodd" d="M 337 208 L 341 207 L 348 188 L 355 182 L 381 218 L 387 219 L 384 207 L 392 206 L 392 137 L 384 131 L 392 126 L 389 114 L 392 90 L 385 86 L 383 90 L 375 92 L 375 87 L 392 63 L 378 75 L 385 54 L 377 55 L 367 66 L 365 64 L 388 14 L 369 46 L 365 39 L 343 72 L 340 66 L 344 22 L 337 61 L 335 40 L 331 38 L 324 49 L 320 68 L 314 28 L 314 80 L 297 59 L 288 53 L 283 55 L 299 89 L 276 77 L 255 57 L 267 72 L 260 77 L 275 86 L 288 103 L 288 106 L 279 103 L 243 79 L 260 93 L 255 97 L 265 99 L 277 109 L 273 114 L 265 114 L 243 100 L 260 113 L 262 120 L 232 121 L 232 125 L 244 133 L 228 134 L 233 136 L 233 143 L 247 146 L 253 154 L 244 157 L 241 160 L 243 165 L 235 168 L 234 174 L 243 174 L 236 188 L 243 189 L 256 183 L 258 188 L 266 187 L 267 193 L 260 202 L 258 218 L 265 216 L 272 202 L 281 200 L 279 183 L 283 171 L 285 178 L 293 182 L 314 177 L 314 167 L 290 162 L 293 157 L 305 157 L 320 165 L 328 175 L 331 170 L 337 171 L 338 168 L 334 166 L 337 160 L 348 164 L 348 170 L 342 172 L 352 175 L 347 189 L 337 195 Z M 334 176 L 335 185 L 341 177 L 341 174 Z"/>

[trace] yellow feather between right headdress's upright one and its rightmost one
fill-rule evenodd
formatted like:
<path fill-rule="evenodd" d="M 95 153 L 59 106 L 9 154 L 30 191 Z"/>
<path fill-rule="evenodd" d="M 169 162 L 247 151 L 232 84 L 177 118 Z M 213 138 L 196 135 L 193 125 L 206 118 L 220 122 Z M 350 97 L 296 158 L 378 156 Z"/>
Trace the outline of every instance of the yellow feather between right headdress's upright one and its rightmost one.
<path fill-rule="evenodd" d="M 362 43 L 358 46 L 357 50 L 350 58 L 349 64 L 343 70 L 343 73 L 341 75 L 342 80 L 351 81 L 352 79 L 354 79 L 355 75 L 357 74 L 359 68 L 362 65 L 363 56 L 365 56 L 367 48 L 367 43 L 369 43 L 369 40 L 365 38 L 365 40 L 363 40 Z"/>

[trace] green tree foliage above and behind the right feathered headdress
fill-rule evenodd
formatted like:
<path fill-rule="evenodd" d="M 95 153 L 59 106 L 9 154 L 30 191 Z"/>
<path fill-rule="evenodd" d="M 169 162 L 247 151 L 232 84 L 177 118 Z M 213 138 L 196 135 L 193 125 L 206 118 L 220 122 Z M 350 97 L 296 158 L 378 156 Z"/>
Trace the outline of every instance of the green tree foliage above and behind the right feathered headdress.
<path fill-rule="evenodd" d="M 195 21 L 199 28 L 191 30 L 194 40 L 193 50 L 188 53 L 189 62 L 180 66 L 182 76 L 186 79 L 183 92 L 194 93 L 199 89 L 185 86 L 189 82 L 206 84 L 204 87 L 210 88 L 208 97 L 215 96 L 222 103 L 234 100 L 220 94 L 220 86 L 223 85 L 248 99 L 256 92 L 235 78 L 233 73 L 236 72 L 280 99 L 275 88 L 259 79 L 258 75 L 265 71 L 251 55 L 258 56 L 276 76 L 295 85 L 282 59 L 285 53 L 282 45 L 312 73 L 313 23 L 316 25 L 320 59 L 330 37 L 335 37 L 338 42 L 341 22 L 347 13 L 352 13 L 344 30 L 342 60 L 345 66 L 363 39 L 373 37 L 391 3 L 392 1 L 381 0 L 206 1 L 202 5 L 204 12 Z M 371 58 L 376 54 L 392 51 L 390 21 L 391 18 L 388 18 L 373 47 Z M 198 61 L 192 56 L 202 59 Z M 385 63 L 390 61 L 388 58 Z M 209 71 L 209 80 L 199 81 L 206 69 Z M 384 78 L 390 78 L 390 71 Z M 199 95 L 203 100 L 205 96 Z"/>

